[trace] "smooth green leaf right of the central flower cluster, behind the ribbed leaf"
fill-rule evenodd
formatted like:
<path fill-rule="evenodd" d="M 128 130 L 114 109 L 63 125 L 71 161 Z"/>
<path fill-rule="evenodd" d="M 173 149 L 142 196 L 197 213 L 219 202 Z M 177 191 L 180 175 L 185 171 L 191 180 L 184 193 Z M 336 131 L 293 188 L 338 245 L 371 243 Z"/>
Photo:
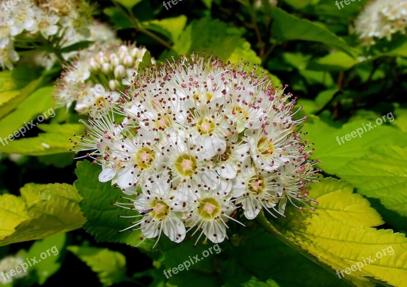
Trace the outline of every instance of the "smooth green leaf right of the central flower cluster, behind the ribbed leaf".
<path fill-rule="evenodd" d="M 319 166 L 329 174 L 337 174 L 346 163 L 367 155 L 370 146 L 396 143 L 402 145 L 407 141 L 407 135 L 397 128 L 384 124 L 374 127 L 376 123 L 372 121 L 373 129 L 369 131 L 369 127 L 366 127 L 368 124 L 367 120 L 355 120 L 341 128 L 335 128 L 316 117 L 309 117 L 304 124 L 303 132 L 307 132 L 307 139 L 315 143 L 312 156 L 322 161 Z M 359 132 L 363 131 L 360 137 L 356 134 L 358 128 Z M 356 136 L 352 137 L 351 133 L 354 131 L 353 135 Z M 349 135 L 347 138 L 350 141 L 345 139 L 346 135 Z"/>

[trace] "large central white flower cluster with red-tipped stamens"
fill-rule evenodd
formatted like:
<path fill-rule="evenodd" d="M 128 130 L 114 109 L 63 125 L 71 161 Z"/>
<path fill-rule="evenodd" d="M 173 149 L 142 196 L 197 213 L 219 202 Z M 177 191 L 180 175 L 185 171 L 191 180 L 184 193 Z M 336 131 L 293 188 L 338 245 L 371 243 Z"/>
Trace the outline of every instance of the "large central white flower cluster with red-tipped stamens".
<path fill-rule="evenodd" d="M 86 156 L 102 165 L 99 180 L 137 195 L 117 203 L 141 217 L 125 230 L 181 242 L 196 227 L 197 241 L 219 243 L 238 206 L 254 219 L 313 201 L 315 162 L 295 131 L 305 118 L 294 120 L 283 90 L 245 65 L 182 57 L 134 79 L 111 113 L 82 121 L 76 151 L 94 150 Z"/>

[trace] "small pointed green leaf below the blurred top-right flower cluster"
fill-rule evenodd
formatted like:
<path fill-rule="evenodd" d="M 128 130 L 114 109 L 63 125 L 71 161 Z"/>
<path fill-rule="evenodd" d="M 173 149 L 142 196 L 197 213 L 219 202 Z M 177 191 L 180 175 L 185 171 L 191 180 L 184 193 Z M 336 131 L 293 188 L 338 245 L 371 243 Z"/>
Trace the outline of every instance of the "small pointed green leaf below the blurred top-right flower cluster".
<path fill-rule="evenodd" d="M 307 69 L 315 71 L 345 71 L 359 63 L 358 59 L 342 51 L 337 51 L 309 62 Z"/>

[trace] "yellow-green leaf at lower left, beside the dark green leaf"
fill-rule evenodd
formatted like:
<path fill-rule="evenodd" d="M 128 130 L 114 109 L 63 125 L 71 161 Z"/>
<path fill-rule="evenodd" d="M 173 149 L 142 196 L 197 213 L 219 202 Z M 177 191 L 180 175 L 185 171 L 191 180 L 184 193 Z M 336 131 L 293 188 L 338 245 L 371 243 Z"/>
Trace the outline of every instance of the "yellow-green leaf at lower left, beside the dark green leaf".
<path fill-rule="evenodd" d="M 85 219 L 79 208 L 81 197 L 73 186 L 49 184 L 45 188 L 43 185 L 37 185 L 37 188 L 40 199 L 28 207 L 27 219 L 20 221 L 13 233 L 0 240 L 0 246 L 42 239 L 80 228 L 84 223 Z M 35 192 L 32 190 L 30 193 Z M 24 207 L 26 208 L 25 205 Z"/>

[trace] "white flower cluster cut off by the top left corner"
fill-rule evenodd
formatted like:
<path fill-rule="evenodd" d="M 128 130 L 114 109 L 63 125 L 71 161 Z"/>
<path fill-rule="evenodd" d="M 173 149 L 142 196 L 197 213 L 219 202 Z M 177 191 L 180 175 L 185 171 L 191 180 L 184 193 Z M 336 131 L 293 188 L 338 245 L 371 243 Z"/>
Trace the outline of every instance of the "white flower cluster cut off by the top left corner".
<path fill-rule="evenodd" d="M 91 37 L 95 8 L 82 0 L 27 0 L 0 7 L 0 66 L 13 68 L 15 48 L 67 47 Z"/>

